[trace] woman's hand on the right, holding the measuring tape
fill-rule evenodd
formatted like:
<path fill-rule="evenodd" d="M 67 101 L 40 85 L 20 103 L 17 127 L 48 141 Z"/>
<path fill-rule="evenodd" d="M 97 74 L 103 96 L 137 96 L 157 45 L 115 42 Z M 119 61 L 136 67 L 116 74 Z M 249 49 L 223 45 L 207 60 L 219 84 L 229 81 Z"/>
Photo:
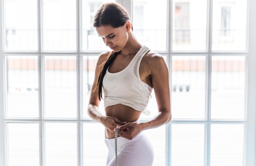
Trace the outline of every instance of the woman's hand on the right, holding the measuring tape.
<path fill-rule="evenodd" d="M 139 126 L 140 125 L 137 122 L 130 122 L 121 126 L 117 126 L 114 130 L 116 131 L 117 129 L 119 129 L 120 131 L 118 135 L 129 140 L 132 140 L 133 138 L 135 138 L 136 135 L 138 135 L 142 131 L 142 129 Z"/>

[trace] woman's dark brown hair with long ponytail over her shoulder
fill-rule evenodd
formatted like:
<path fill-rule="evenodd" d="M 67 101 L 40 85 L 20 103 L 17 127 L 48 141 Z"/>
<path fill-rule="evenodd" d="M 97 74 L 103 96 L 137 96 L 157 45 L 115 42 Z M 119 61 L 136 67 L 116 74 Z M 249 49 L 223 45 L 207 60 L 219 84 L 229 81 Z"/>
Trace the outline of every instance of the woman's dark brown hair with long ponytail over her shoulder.
<path fill-rule="evenodd" d="M 130 21 L 130 16 L 127 13 L 126 9 L 117 3 L 104 3 L 98 9 L 97 13 L 94 17 L 94 27 L 99 26 L 112 26 L 113 28 L 119 28 L 123 26 L 126 21 Z M 106 74 L 108 67 L 114 61 L 115 57 L 120 52 L 110 52 L 110 54 L 106 57 L 106 60 L 99 66 L 100 67 L 100 74 L 98 77 L 97 84 L 93 91 L 98 92 L 98 98 L 101 100 L 102 98 L 102 81 Z"/>

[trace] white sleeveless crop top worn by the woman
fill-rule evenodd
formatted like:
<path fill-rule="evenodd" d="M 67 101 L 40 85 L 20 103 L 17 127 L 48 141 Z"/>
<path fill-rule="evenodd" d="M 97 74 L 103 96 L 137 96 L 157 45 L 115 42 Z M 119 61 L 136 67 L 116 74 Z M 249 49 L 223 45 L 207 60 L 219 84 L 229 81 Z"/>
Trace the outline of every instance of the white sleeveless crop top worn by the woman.
<path fill-rule="evenodd" d="M 141 47 L 129 65 L 120 72 L 110 73 L 107 69 L 102 83 L 105 108 L 122 104 L 143 111 L 146 115 L 150 114 L 146 107 L 152 98 L 153 88 L 141 81 L 139 76 L 141 59 L 148 51 L 146 46 Z"/>

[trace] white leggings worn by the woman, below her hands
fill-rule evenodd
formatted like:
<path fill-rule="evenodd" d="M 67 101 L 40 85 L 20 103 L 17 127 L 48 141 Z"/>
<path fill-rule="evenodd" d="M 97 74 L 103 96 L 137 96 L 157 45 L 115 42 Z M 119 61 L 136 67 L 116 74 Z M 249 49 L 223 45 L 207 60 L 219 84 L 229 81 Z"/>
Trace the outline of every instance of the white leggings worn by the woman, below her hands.
<path fill-rule="evenodd" d="M 105 138 L 108 147 L 106 166 L 116 166 L 115 138 Z M 118 166 L 152 166 L 154 151 L 150 140 L 143 133 L 139 133 L 132 140 L 117 138 Z"/>

